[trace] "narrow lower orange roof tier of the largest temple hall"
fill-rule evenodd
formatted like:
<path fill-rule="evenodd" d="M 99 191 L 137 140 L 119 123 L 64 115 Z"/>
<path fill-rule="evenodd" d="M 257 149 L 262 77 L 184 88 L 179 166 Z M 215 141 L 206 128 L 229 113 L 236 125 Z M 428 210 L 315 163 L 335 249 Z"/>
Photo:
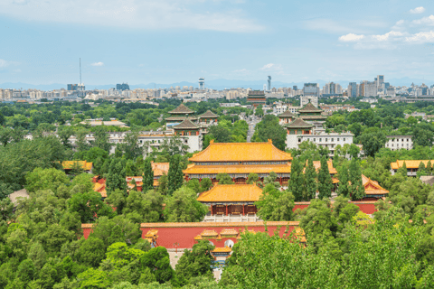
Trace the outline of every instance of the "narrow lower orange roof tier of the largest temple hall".
<path fill-rule="evenodd" d="M 289 173 L 291 165 L 287 164 L 237 164 L 237 165 L 195 165 L 190 164 L 185 174 L 217 174 L 217 173 Z"/>

